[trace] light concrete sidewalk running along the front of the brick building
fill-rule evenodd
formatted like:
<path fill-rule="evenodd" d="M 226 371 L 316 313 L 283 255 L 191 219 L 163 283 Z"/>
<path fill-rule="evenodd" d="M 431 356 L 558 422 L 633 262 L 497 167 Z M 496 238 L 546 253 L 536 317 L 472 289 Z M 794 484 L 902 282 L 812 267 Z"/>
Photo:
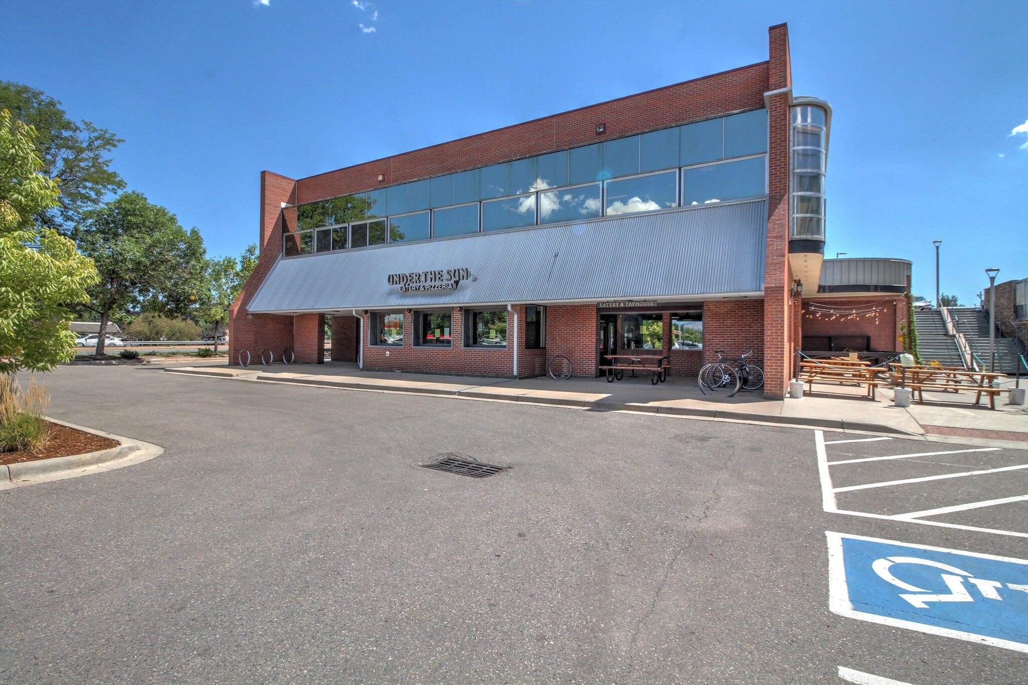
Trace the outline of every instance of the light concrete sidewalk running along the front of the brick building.
<path fill-rule="evenodd" d="M 632 411 L 702 419 L 787 424 L 834 430 L 860 430 L 923 436 L 939 442 L 1028 444 L 1028 410 L 1003 404 L 990 410 L 987 401 L 972 404 L 966 392 L 925 392 L 924 405 L 909 409 L 892 404 L 890 388 L 878 398 L 859 387 L 814 384 L 800 399 L 766 399 L 760 392 L 735 397 L 703 394 L 695 378 L 670 377 L 652 385 L 650 375 L 608 383 L 603 378 L 555 381 L 548 376 L 512 380 L 434 374 L 361 371 L 355 364 L 274 364 L 267 367 L 193 366 L 164 371 L 246 381 L 298 383 L 358 390 L 415 392 L 475 399 L 524 402 L 580 407 L 592 411 Z"/>

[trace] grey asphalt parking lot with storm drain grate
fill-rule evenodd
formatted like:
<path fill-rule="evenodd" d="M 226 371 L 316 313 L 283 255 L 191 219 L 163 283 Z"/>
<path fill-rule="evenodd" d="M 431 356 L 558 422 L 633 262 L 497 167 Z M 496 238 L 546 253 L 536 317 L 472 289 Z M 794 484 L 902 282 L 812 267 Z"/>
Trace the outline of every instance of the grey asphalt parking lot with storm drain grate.
<path fill-rule="evenodd" d="M 833 612 L 825 538 L 1028 559 L 1028 537 L 1011 534 L 1026 531 L 1023 500 L 923 519 L 952 526 L 892 518 L 1028 494 L 1028 469 L 835 492 L 1028 464 L 1024 451 L 822 465 L 978 448 L 829 432 L 822 456 L 807 429 L 155 366 L 63 368 L 48 380 L 54 417 L 166 452 L 0 493 L 5 682 L 861 673 L 956 685 L 1028 673 L 1023 651 Z M 512 468 L 421 468 L 446 452 Z M 1021 606 L 1017 583 L 999 580 L 1002 606 Z"/>

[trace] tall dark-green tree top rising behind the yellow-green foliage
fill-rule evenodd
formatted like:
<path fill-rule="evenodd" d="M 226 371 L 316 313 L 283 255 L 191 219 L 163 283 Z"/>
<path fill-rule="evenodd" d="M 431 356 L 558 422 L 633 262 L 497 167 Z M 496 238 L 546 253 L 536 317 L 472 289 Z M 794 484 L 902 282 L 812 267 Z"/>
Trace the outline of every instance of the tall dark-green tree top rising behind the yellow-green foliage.
<path fill-rule="evenodd" d="M 0 81 L 0 108 L 35 127 L 35 146 L 43 163 L 40 170 L 61 191 L 57 203 L 35 211 L 43 228 L 70 234 L 88 210 L 124 188 L 108 156 L 123 141 L 111 131 L 88 121 L 75 123 L 60 102 L 22 83 Z"/>

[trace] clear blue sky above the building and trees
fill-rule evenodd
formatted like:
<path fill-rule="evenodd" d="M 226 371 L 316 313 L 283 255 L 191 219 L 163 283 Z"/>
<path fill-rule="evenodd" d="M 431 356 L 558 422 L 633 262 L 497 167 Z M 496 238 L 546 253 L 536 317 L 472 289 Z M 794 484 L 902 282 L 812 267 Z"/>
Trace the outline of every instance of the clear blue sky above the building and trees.
<path fill-rule="evenodd" d="M 359 4 L 4 0 L 0 78 L 125 139 L 128 188 L 237 254 L 261 169 L 310 176 L 761 62 L 787 22 L 795 93 L 835 110 L 827 256 L 910 259 L 929 299 L 934 239 L 962 302 L 987 267 L 1028 277 L 1023 1 Z"/>

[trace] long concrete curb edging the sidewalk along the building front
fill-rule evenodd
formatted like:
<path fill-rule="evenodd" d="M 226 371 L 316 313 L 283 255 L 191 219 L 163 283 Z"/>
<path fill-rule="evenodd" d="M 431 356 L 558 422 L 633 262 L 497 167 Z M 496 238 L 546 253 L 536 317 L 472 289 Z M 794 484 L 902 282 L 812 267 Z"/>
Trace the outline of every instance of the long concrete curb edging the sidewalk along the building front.
<path fill-rule="evenodd" d="M 373 390 L 377 392 L 408 392 L 414 394 L 435 394 L 441 396 L 456 396 L 467 399 L 485 399 L 489 402 L 513 402 L 519 404 L 541 405 L 548 407 L 575 407 L 602 412 L 637 412 L 642 414 L 657 414 L 661 416 L 683 416 L 692 418 L 702 418 L 714 421 L 737 421 L 740 423 L 761 423 L 765 425 L 784 425 L 797 428 L 821 428 L 830 430 L 858 431 L 889 433 L 893 435 L 909 435 L 912 437 L 924 437 L 921 433 L 911 432 L 903 428 L 888 425 L 887 423 L 869 423 L 861 421 L 846 421 L 844 419 L 820 419 L 802 416 L 781 416 L 778 414 L 757 414 L 750 412 L 733 412 L 724 409 L 701 409 L 692 407 L 661 407 L 659 405 L 642 405 L 637 403 L 613 403 L 594 402 L 591 399 L 578 399 L 575 397 L 547 397 L 545 395 L 514 394 L 506 392 L 493 392 L 488 389 L 476 387 L 469 390 L 456 390 L 453 388 L 416 387 L 416 386 L 391 386 L 378 383 L 368 383 L 363 381 L 338 381 L 325 378 L 310 378 L 303 376 L 283 377 L 279 374 L 267 372 L 251 372 L 244 374 L 241 372 L 206 370 L 206 369 L 164 369 L 169 373 L 187 374 L 192 376 L 211 376 L 215 378 L 245 378 L 256 379 L 268 383 L 292 383 L 295 385 L 317 385 L 322 387 L 335 387 L 351 390 Z M 257 374 L 256 377 L 254 374 Z"/>

